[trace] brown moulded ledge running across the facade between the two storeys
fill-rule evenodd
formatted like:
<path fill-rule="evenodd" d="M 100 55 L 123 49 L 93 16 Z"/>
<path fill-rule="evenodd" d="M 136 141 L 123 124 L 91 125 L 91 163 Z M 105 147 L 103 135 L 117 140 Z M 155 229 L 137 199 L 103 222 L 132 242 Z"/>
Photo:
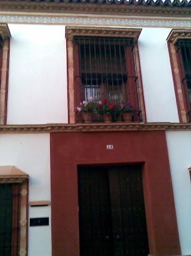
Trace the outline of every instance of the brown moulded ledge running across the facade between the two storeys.
<path fill-rule="evenodd" d="M 180 123 L 115 123 L 115 124 L 47 124 L 0 125 L 0 134 L 105 131 L 191 131 L 191 124 Z"/>

